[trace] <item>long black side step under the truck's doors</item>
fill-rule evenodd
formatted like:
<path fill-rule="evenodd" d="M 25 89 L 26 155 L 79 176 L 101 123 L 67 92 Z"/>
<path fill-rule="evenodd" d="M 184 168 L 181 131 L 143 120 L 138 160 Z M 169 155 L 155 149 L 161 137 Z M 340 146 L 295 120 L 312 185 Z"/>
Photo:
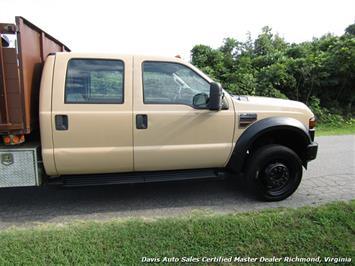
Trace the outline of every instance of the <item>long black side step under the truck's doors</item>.
<path fill-rule="evenodd" d="M 63 176 L 63 185 L 66 187 L 100 186 L 115 184 L 133 184 L 178 181 L 191 179 L 224 178 L 226 173 L 218 169 L 179 170 L 159 172 L 133 172 L 99 175 L 71 175 Z"/>

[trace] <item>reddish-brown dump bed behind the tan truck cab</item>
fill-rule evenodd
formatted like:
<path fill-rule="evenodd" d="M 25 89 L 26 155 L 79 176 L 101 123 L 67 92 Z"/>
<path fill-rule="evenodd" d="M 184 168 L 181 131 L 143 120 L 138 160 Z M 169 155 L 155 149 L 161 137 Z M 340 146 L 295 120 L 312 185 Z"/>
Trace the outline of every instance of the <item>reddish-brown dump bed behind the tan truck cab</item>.
<path fill-rule="evenodd" d="M 70 50 L 22 17 L 16 25 L 0 23 L 0 34 L 0 135 L 29 134 L 38 127 L 43 63 L 50 53 Z M 16 47 L 8 47 L 8 36 Z"/>

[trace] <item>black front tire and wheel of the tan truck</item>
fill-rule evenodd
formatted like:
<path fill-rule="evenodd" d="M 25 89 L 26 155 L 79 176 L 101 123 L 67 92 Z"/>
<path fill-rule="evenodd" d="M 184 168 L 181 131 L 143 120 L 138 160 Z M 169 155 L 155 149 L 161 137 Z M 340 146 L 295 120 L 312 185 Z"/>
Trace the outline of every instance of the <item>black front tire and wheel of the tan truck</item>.
<path fill-rule="evenodd" d="M 280 201 L 296 191 L 302 179 L 302 162 L 282 145 L 259 148 L 248 160 L 246 178 L 249 190 L 264 201 Z"/>

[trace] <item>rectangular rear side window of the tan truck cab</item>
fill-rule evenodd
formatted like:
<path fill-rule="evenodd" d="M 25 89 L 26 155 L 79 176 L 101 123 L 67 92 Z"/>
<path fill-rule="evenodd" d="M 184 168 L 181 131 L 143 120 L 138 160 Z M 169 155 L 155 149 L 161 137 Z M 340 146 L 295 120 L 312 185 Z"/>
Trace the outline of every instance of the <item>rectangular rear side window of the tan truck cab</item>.
<path fill-rule="evenodd" d="M 123 103 L 123 74 L 120 60 L 71 59 L 65 103 Z"/>

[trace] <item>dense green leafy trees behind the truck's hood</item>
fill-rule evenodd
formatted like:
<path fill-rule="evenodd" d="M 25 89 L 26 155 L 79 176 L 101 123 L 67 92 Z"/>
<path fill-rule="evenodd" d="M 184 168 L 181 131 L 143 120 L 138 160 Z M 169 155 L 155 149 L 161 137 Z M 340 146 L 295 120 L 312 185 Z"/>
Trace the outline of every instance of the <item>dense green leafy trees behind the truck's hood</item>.
<path fill-rule="evenodd" d="M 355 114 L 355 24 L 342 36 L 299 44 L 264 27 L 254 41 L 248 34 L 245 42 L 227 38 L 217 49 L 196 45 L 191 53 L 192 63 L 232 94 L 302 101 L 327 123 Z"/>

